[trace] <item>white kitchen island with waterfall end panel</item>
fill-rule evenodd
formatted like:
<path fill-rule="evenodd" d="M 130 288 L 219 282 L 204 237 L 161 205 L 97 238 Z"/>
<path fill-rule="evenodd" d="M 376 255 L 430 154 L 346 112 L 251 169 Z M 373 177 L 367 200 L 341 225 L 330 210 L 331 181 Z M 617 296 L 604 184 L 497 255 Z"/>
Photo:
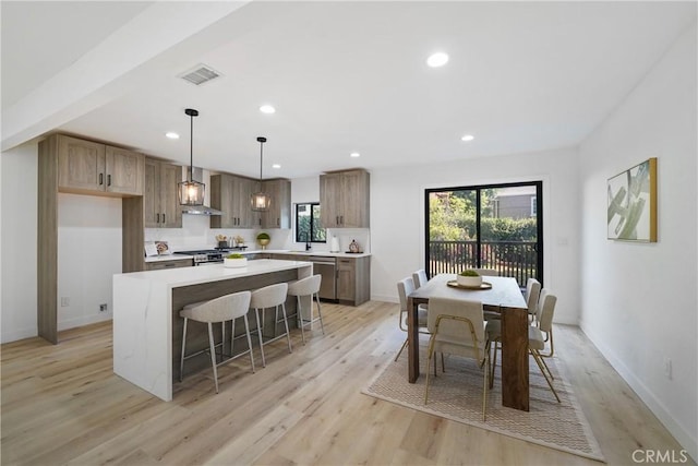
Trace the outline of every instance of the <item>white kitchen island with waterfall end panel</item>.
<path fill-rule="evenodd" d="M 117 274 L 113 276 L 113 371 L 169 402 L 172 381 L 179 380 L 182 342 L 179 311 L 184 306 L 312 274 L 310 262 L 270 259 L 249 261 L 240 268 L 215 264 Z M 205 346 L 206 339 L 202 336 L 203 332 L 196 335 L 190 330 L 188 348 Z"/>

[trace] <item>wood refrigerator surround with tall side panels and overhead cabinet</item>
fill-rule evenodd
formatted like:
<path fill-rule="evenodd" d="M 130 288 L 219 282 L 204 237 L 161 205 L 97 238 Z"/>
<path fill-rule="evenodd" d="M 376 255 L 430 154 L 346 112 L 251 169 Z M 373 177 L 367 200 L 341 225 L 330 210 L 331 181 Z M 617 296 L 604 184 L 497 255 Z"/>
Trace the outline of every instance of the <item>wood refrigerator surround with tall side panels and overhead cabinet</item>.
<path fill-rule="evenodd" d="M 36 273 L 36 314 L 38 335 L 48 342 L 58 343 L 58 193 L 122 198 L 121 270 L 141 271 L 144 158 L 131 151 L 61 134 L 39 142 L 36 250 L 41 260 Z"/>

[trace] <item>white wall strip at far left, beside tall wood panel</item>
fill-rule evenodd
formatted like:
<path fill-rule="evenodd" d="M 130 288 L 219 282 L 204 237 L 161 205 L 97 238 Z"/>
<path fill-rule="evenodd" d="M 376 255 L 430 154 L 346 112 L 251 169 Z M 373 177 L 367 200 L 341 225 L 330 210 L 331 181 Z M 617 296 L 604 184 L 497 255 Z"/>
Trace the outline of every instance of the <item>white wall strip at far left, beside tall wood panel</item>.
<path fill-rule="evenodd" d="M 2 282 L 0 340 L 35 336 L 37 144 L 27 143 L 0 156 L 2 178 Z"/>

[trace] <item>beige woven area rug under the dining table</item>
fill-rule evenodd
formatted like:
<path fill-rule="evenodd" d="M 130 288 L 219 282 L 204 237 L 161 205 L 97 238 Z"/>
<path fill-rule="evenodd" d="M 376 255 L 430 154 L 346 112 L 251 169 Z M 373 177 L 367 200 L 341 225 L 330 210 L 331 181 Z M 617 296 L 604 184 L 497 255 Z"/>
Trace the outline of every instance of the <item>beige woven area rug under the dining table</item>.
<path fill-rule="evenodd" d="M 417 383 L 407 382 L 407 350 L 397 361 L 390 360 L 385 369 L 362 393 L 396 403 L 419 411 L 429 413 L 457 422 L 488 429 L 504 435 L 521 439 L 563 452 L 604 462 L 603 454 L 579 403 L 565 381 L 562 362 L 547 358 L 553 375 L 557 403 L 545 379 L 531 358 L 529 411 L 502 406 L 501 366 L 494 378 L 494 387 L 488 394 L 488 416 L 482 421 L 483 372 L 473 360 L 456 356 L 446 359 L 446 372 L 430 377 L 429 403 L 424 405 L 425 348 L 420 351 L 420 378 Z M 498 355 L 500 356 L 500 355 Z M 432 368 L 433 375 L 433 368 Z"/>

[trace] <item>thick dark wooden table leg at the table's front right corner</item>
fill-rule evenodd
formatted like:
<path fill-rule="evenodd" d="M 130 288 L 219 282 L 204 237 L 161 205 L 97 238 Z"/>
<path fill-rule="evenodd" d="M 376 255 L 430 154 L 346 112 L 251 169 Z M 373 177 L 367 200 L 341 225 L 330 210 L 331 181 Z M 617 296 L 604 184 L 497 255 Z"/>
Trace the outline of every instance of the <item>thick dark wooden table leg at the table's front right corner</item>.
<path fill-rule="evenodd" d="M 528 411 L 528 312 L 502 311 L 502 405 Z"/>

